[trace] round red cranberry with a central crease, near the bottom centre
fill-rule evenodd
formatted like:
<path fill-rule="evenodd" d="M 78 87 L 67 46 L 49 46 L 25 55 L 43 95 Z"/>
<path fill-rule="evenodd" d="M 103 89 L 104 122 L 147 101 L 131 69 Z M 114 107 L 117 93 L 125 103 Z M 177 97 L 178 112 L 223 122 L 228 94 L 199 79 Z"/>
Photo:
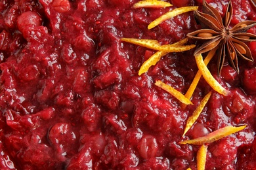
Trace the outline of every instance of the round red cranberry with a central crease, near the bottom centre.
<path fill-rule="evenodd" d="M 158 143 L 156 138 L 151 135 L 145 135 L 142 137 L 139 143 L 139 153 L 145 160 L 155 157 L 158 151 Z"/>

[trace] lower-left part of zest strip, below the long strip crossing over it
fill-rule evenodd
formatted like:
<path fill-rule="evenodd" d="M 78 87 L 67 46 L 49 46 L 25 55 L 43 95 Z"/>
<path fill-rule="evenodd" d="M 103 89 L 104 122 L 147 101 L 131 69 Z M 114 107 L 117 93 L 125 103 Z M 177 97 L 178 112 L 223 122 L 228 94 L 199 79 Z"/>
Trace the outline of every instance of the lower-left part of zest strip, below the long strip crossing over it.
<path fill-rule="evenodd" d="M 146 73 L 152 65 L 156 65 L 156 63 L 161 59 L 161 57 L 165 56 L 166 54 L 167 52 L 159 51 L 153 54 L 149 59 L 144 61 L 144 63 L 140 67 L 139 76 L 142 75 L 143 73 Z"/>

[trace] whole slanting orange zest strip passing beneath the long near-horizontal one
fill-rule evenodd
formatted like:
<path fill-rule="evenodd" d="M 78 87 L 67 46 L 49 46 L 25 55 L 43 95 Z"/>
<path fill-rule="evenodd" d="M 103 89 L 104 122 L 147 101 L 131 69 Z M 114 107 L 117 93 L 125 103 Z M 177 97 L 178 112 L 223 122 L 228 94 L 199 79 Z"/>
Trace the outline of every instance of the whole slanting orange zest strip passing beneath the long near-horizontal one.
<path fill-rule="evenodd" d="M 179 45 L 185 44 L 186 42 L 188 42 L 188 38 L 185 38 L 185 39 L 182 39 L 181 41 L 175 42 L 172 45 L 179 46 Z M 155 54 L 153 54 L 149 59 L 144 61 L 144 63 L 140 67 L 139 75 L 146 73 L 152 65 L 156 65 L 156 63 L 161 59 L 161 57 L 165 56 L 167 53 L 168 52 L 158 51 Z"/>

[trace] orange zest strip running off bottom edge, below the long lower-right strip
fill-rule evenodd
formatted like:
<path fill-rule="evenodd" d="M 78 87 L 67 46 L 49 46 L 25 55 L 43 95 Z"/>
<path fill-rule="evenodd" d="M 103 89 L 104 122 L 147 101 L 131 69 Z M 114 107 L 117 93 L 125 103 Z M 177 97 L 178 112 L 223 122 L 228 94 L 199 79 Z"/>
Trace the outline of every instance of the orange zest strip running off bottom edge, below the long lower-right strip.
<path fill-rule="evenodd" d="M 196 165 L 198 170 L 204 170 L 205 169 L 205 163 L 206 163 L 206 156 L 207 156 L 207 146 L 204 144 L 200 147 L 198 150 L 198 154 L 196 154 Z"/>

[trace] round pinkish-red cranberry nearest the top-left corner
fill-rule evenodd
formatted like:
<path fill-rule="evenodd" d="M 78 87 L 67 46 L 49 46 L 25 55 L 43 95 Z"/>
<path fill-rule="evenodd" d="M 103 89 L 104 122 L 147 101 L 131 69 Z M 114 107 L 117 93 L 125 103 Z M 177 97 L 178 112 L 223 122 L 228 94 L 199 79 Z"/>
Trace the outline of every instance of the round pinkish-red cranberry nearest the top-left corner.
<path fill-rule="evenodd" d="M 31 25 L 42 25 L 42 19 L 36 12 L 28 11 L 18 16 L 17 26 L 22 33 L 25 31 L 26 27 Z"/>

